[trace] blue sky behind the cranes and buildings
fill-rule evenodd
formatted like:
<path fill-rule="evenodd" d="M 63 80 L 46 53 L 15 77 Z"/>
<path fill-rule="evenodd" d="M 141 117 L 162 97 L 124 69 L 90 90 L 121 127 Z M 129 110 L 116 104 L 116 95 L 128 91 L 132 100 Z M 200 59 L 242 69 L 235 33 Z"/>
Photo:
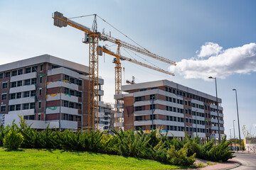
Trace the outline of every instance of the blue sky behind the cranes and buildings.
<path fill-rule="evenodd" d="M 229 137 L 233 120 L 237 123 L 234 88 L 238 89 L 240 128 L 242 130 L 242 125 L 246 125 L 248 130 L 251 128 L 256 133 L 253 108 L 256 104 L 255 45 L 249 45 L 256 40 L 255 7 L 256 1 L 0 1 L 0 64 L 49 54 L 88 65 L 88 47 L 81 42 L 83 33 L 75 28 L 53 26 L 51 15 L 54 11 L 60 11 L 68 18 L 97 13 L 147 50 L 179 64 L 174 70 L 176 76 L 169 77 L 123 62 L 122 79 L 134 76 L 137 83 L 169 79 L 215 96 L 214 81 L 206 80 L 208 74 L 204 74 L 213 69 L 216 71 L 213 76 L 218 81 L 218 96 L 223 99 L 225 133 Z M 92 26 L 92 20 L 92 17 L 75 19 L 88 27 Z M 98 30 L 102 31 L 102 28 L 106 33 L 111 31 L 113 37 L 130 42 L 98 18 Z M 206 42 L 212 42 L 222 50 L 198 57 L 200 52 L 203 54 Z M 243 45 L 250 46 L 247 47 L 247 52 L 252 55 L 250 60 L 245 60 L 245 55 L 230 55 Z M 122 55 L 129 57 L 123 50 Z M 210 58 L 214 62 L 209 64 Z M 146 60 L 169 69 L 169 65 Z M 203 71 L 199 72 L 196 65 L 187 70 L 186 61 L 205 63 L 200 67 Z M 100 57 L 100 75 L 105 79 L 104 100 L 114 102 L 112 57 Z M 197 77 L 187 79 L 194 75 Z M 237 125 L 235 133 L 238 136 Z"/>

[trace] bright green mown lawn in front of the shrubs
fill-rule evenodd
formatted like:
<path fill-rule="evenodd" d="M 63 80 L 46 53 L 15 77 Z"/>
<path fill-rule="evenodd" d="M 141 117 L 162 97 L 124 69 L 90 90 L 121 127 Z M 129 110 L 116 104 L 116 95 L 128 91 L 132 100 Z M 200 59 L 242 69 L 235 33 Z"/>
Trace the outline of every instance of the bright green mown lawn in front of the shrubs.
<path fill-rule="evenodd" d="M 59 149 L 19 149 L 0 147 L 0 169 L 182 169 L 148 159 Z"/>

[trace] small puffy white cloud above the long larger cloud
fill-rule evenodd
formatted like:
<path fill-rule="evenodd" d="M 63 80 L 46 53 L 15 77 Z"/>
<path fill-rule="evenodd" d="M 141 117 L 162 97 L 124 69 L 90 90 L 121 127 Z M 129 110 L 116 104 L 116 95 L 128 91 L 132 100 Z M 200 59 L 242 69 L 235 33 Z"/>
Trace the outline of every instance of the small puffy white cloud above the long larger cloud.
<path fill-rule="evenodd" d="M 218 44 L 215 44 L 213 42 L 206 42 L 205 45 L 201 46 L 201 50 L 198 57 L 201 58 L 201 57 L 208 57 L 211 55 L 218 55 L 220 52 L 222 52 L 222 49 L 223 47 L 220 47 L 220 45 Z"/>

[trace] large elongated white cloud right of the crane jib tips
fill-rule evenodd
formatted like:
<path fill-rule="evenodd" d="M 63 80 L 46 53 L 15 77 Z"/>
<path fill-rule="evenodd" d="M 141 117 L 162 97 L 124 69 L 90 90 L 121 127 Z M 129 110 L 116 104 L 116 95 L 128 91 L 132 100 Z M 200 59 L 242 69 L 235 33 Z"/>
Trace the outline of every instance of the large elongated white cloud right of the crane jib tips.
<path fill-rule="evenodd" d="M 206 47 L 208 45 L 211 47 L 214 46 L 215 52 L 213 50 L 206 52 L 205 49 L 208 48 Z M 208 77 L 225 79 L 225 77 L 235 73 L 249 74 L 250 72 L 256 72 L 255 43 L 242 45 L 242 47 L 229 48 L 227 50 L 221 49 L 222 47 L 218 44 L 207 42 L 206 45 L 201 47 L 199 54 L 202 54 L 202 57 L 211 53 L 208 58 L 202 59 L 198 56 L 198 58 L 191 58 L 189 60 L 183 59 L 181 62 L 176 63 L 176 67 L 171 66 L 169 69 L 171 72 L 181 74 L 186 79 L 204 80 L 208 80 Z"/>

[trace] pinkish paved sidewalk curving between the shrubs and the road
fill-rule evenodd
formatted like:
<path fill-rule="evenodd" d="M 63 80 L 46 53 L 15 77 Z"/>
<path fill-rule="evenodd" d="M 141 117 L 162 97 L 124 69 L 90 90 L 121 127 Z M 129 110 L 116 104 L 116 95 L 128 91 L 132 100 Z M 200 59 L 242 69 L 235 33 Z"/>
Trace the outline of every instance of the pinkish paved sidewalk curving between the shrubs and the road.
<path fill-rule="evenodd" d="M 206 166 L 203 168 L 198 168 L 200 170 L 210 170 L 210 169 L 221 169 L 221 170 L 227 170 L 227 169 L 234 169 L 238 166 L 240 166 L 240 162 L 238 162 L 236 159 L 228 159 L 228 162 L 218 163 L 215 165 Z"/>

